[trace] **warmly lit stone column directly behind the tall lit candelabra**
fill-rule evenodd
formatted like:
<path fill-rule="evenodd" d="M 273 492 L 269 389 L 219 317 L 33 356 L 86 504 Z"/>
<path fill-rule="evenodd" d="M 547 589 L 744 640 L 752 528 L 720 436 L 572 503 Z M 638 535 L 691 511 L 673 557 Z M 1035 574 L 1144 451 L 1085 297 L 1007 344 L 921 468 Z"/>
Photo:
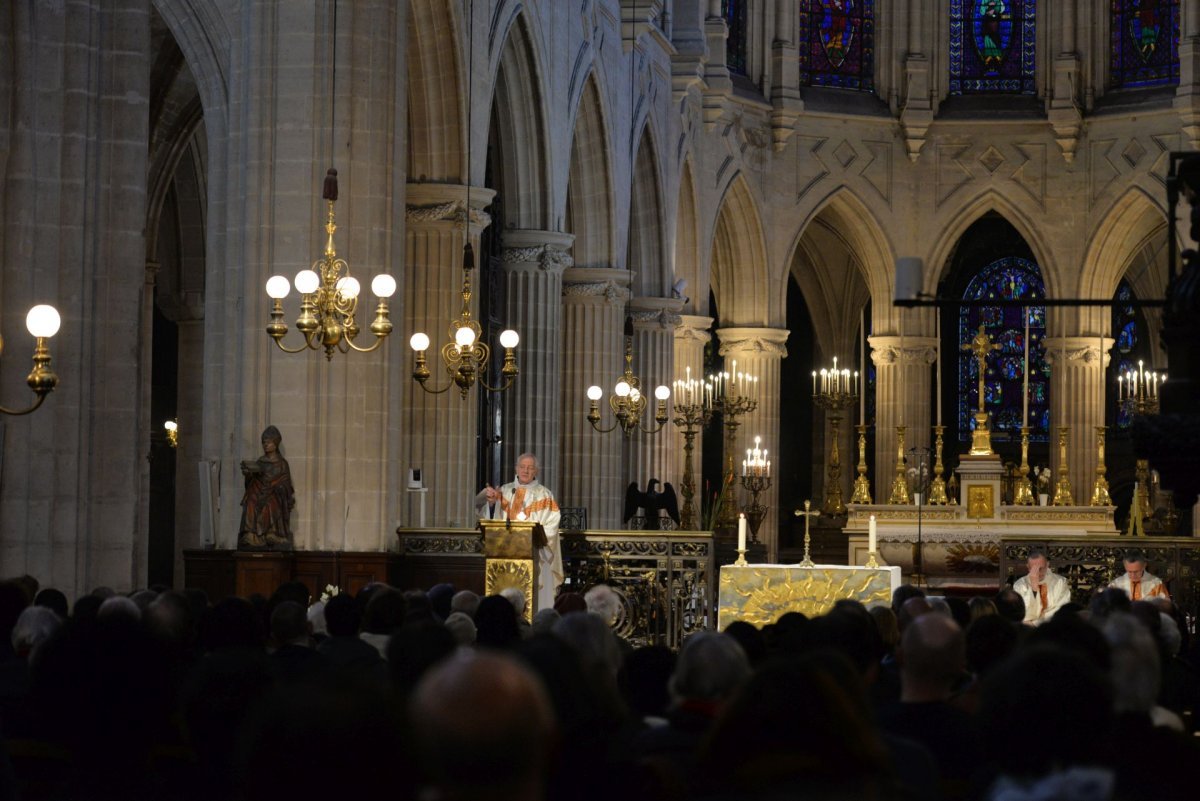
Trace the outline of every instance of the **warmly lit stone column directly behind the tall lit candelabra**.
<path fill-rule="evenodd" d="M 755 436 L 762 436 L 762 446 L 772 454 L 772 474 L 779 469 L 779 362 L 787 356 L 786 329 L 718 329 L 725 369 L 732 372 L 734 361 L 738 371 L 758 377 L 758 408 L 739 418 L 737 441 L 733 447 L 734 464 L 740 477 L 742 454 Z M 716 420 L 714 426 L 724 424 Z M 724 436 L 722 436 L 724 441 Z M 726 454 L 727 456 L 727 454 Z M 737 489 L 738 505 L 749 502 L 749 496 Z M 774 484 L 764 492 L 758 502 L 767 507 L 767 517 L 758 529 L 758 541 L 767 546 L 767 559 L 774 561 L 779 553 L 779 489 Z"/>

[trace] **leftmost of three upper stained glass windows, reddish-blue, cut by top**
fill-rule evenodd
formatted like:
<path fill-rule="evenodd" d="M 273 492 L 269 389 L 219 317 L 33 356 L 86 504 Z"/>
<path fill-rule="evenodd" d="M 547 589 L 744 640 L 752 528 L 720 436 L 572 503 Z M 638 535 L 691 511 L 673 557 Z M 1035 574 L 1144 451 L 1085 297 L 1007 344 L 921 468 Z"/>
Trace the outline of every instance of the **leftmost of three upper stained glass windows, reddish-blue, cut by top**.
<path fill-rule="evenodd" d="M 800 0 L 800 84 L 875 89 L 875 0 Z"/>

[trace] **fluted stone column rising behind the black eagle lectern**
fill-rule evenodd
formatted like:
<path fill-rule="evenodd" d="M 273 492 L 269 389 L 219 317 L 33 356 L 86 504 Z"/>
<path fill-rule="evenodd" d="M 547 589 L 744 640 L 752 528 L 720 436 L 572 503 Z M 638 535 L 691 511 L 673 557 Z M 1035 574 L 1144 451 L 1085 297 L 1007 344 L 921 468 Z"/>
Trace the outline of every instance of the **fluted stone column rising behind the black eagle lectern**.
<path fill-rule="evenodd" d="M 668 390 L 677 378 L 674 371 L 674 330 L 679 325 L 679 311 L 683 301 L 673 297 L 635 297 L 629 302 L 629 313 L 634 319 L 634 374 L 642 383 L 646 393 L 646 411 L 642 412 L 642 426 L 655 427 L 654 411 L 658 399 L 654 390 L 664 385 Z M 667 414 L 671 414 L 671 399 L 667 399 Z M 628 481 L 636 481 L 638 487 L 646 487 L 650 478 L 671 481 L 671 432 L 673 424 L 667 421 L 655 434 L 635 432 L 629 440 L 629 463 L 625 466 Z M 628 482 L 626 482 L 628 483 Z M 678 487 L 676 488 L 678 492 Z"/>

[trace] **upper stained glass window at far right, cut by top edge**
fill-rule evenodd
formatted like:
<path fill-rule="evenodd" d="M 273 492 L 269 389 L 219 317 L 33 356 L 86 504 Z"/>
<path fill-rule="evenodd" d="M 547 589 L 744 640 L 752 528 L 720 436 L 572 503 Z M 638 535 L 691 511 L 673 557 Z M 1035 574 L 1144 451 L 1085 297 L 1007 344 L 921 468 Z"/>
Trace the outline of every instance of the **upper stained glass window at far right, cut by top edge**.
<path fill-rule="evenodd" d="M 1114 89 L 1180 83 L 1180 0 L 1111 0 Z"/>

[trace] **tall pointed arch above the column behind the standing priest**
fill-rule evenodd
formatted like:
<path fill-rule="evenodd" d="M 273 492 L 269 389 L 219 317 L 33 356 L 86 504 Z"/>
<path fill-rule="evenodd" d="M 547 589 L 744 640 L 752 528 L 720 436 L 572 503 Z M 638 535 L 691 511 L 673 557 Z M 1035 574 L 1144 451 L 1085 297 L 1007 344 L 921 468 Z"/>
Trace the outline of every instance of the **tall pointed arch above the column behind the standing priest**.
<path fill-rule="evenodd" d="M 548 230 L 551 227 L 545 97 L 533 37 L 521 12 L 508 28 L 500 48 L 491 98 L 490 119 L 499 157 L 496 169 L 504 187 L 502 222 L 506 228 Z M 482 126 L 476 126 L 479 130 Z M 480 176 L 485 169 L 482 161 L 475 159 Z"/>

